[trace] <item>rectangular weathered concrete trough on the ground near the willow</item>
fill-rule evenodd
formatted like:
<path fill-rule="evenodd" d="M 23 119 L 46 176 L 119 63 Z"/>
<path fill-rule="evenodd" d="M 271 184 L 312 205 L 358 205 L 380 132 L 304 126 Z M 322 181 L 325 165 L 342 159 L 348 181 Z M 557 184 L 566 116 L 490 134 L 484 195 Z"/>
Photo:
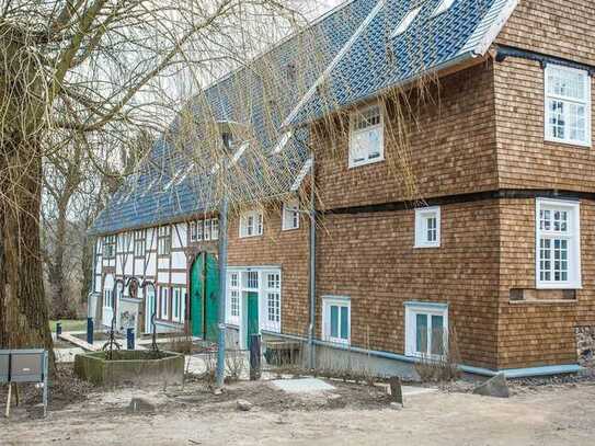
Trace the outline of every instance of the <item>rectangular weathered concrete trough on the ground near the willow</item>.
<path fill-rule="evenodd" d="M 184 355 L 173 352 L 122 350 L 75 356 L 75 374 L 98 386 L 182 384 Z"/>

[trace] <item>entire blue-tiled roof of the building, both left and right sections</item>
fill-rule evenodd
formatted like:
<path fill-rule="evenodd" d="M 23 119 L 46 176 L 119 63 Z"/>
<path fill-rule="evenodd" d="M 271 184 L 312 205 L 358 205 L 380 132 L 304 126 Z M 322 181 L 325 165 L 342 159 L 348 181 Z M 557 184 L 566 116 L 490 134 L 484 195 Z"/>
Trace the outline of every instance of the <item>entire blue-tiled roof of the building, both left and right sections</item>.
<path fill-rule="evenodd" d="M 484 55 L 517 3 L 455 0 L 433 16 L 440 1 L 346 2 L 308 31 L 216 82 L 188 101 L 170 131 L 156 142 L 140 173 L 110 199 L 91 232 L 155 226 L 208 211 L 221 183 L 247 199 L 289 192 L 308 162 L 300 142 L 308 139 L 308 130 L 301 124 L 423 73 Z M 409 27 L 392 36 L 415 8 L 420 11 Z M 296 75 L 289 76 L 288 70 Z M 201 158 L 201 146 L 213 139 L 201 125 L 193 127 L 184 150 L 174 144 L 183 133 L 182 117 L 188 114 L 197 123 L 234 122 L 249 128 L 250 147 L 225 173 L 229 179 L 221 178 L 224 172 L 214 169 L 211 160 Z M 274 148 L 284 139 L 283 131 L 298 126 L 277 152 Z"/>

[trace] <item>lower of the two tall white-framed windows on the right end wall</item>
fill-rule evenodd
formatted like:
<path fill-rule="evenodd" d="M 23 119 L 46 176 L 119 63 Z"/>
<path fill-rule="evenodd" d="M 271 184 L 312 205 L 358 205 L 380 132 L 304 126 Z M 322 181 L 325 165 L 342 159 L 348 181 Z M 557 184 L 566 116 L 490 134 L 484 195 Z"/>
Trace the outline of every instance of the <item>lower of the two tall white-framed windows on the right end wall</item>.
<path fill-rule="evenodd" d="M 581 227 L 577 202 L 536 199 L 536 286 L 581 287 Z"/>

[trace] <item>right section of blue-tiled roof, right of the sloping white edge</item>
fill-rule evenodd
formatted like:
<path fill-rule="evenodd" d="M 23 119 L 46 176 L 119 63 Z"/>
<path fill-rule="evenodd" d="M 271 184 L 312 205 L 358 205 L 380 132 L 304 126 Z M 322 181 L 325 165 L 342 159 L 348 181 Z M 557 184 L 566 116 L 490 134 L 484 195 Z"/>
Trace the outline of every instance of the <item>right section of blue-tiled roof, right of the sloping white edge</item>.
<path fill-rule="evenodd" d="M 455 0 L 435 14 L 442 2 L 380 0 L 284 126 L 320 118 L 423 75 L 483 56 L 517 4 L 517 0 Z M 417 13 L 396 35 L 411 12 Z"/>

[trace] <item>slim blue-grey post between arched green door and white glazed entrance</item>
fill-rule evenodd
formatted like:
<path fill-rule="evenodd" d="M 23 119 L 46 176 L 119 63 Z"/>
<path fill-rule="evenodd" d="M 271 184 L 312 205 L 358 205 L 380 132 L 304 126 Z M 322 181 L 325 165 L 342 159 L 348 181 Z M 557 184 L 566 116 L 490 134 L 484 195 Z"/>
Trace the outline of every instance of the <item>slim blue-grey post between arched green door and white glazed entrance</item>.
<path fill-rule="evenodd" d="M 219 338 L 217 342 L 217 389 L 224 388 L 226 363 L 227 296 L 227 197 L 219 210 Z"/>

